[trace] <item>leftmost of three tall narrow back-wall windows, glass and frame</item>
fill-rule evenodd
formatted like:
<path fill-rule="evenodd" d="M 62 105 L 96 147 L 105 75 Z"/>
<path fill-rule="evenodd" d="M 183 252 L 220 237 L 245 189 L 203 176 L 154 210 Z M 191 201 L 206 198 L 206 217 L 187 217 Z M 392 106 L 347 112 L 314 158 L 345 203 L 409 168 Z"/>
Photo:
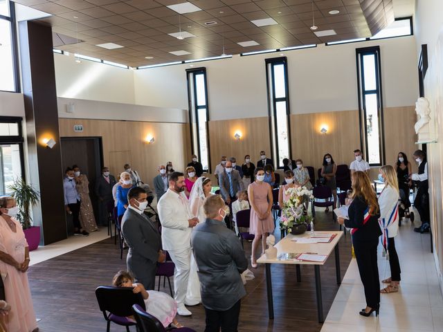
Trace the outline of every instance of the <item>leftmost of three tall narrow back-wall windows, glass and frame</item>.
<path fill-rule="evenodd" d="M 188 75 L 188 104 L 192 153 L 199 157 L 204 171 L 210 172 L 206 68 L 189 69 L 186 72 Z"/>

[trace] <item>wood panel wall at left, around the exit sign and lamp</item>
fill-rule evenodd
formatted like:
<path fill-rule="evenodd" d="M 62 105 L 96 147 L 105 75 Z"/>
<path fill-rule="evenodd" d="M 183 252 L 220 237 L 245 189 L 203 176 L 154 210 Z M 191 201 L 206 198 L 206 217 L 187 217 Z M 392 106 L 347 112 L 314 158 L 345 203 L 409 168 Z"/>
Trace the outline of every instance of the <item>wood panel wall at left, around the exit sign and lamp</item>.
<path fill-rule="evenodd" d="M 188 124 L 66 118 L 60 118 L 59 123 L 62 137 L 101 137 L 103 163 L 114 176 L 129 163 L 143 182 L 152 186 L 160 164 L 172 161 L 174 169 L 183 170 L 190 161 Z M 74 124 L 82 124 L 83 131 L 75 132 Z M 155 142 L 147 144 L 147 135 L 154 136 Z"/>

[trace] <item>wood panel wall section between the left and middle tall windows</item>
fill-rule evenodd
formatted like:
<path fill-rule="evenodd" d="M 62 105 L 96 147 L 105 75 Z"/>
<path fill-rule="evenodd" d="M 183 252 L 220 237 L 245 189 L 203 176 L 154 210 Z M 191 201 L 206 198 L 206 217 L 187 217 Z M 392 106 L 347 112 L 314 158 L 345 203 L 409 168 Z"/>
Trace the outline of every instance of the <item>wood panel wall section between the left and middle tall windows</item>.
<path fill-rule="evenodd" d="M 267 117 L 209 121 L 208 127 L 212 172 L 220 163 L 221 156 L 235 157 L 239 165 L 244 163 L 246 154 L 251 155 L 254 164 L 260 159 L 262 150 L 271 156 Z M 239 140 L 234 138 L 237 131 L 242 133 L 242 138 Z"/>

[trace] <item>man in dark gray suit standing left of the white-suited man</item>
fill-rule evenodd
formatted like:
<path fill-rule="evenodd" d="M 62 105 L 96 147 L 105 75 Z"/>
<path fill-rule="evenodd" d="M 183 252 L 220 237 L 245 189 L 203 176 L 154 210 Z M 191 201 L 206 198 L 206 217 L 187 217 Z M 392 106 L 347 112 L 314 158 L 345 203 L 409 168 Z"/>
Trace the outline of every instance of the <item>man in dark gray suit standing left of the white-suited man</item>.
<path fill-rule="evenodd" d="M 143 188 L 132 187 L 127 194 L 127 201 L 129 206 L 122 219 L 123 237 L 129 247 L 127 270 L 134 275 L 136 282 L 153 290 L 157 262 L 165 261 L 160 233 L 143 213 L 147 207 L 147 194 Z"/>

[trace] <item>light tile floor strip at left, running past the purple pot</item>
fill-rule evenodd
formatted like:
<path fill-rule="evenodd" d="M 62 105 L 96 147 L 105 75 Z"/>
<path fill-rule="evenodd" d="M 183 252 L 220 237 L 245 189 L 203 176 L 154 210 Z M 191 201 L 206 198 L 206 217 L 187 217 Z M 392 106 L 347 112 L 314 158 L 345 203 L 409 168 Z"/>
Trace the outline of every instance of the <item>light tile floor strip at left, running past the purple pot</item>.
<path fill-rule="evenodd" d="M 72 235 L 68 239 L 51 243 L 48 246 L 39 246 L 37 250 L 33 250 L 30 255 L 30 266 L 46 261 L 63 254 L 71 252 L 79 248 L 89 246 L 92 243 L 102 241 L 109 237 L 107 227 L 102 227 L 98 232 L 89 233 L 88 237 L 82 235 Z"/>

